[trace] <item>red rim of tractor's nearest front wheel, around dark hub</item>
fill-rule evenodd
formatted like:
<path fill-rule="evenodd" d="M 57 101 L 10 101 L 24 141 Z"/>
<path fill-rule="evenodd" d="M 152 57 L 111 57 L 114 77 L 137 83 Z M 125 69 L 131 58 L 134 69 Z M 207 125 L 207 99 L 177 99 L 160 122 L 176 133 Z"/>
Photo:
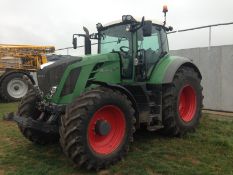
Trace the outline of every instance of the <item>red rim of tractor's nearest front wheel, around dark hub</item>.
<path fill-rule="evenodd" d="M 96 123 L 105 121 L 110 126 L 107 135 L 96 132 Z M 98 154 L 107 155 L 114 152 L 122 143 L 125 135 L 125 116 L 120 108 L 106 105 L 94 113 L 88 126 L 88 141 L 92 150 Z"/>

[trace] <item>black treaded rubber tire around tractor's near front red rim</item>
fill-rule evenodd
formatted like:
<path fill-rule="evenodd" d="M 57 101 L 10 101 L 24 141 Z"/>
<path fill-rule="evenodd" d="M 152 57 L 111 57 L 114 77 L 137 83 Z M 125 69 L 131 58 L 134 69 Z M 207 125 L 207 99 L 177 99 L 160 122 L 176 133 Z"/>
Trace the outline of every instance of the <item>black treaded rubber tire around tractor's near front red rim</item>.
<path fill-rule="evenodd" d="M 91 115 L 89 111 L 93 111 L 95 105 L 106 99 L 109 96 L 125 101 L 129 109 L 131 127 L 126 133 L 127 140 L 116 154 L 104 157 L 101 159 L 98 156 L 93 156 L 88 148 L 87 137 L 85 135 L 85 127 L 87 125 L 88 117 Z M 61 118 L 60 126 L 60 144 L 64 153 L 72 159 L 72 161 L 86 169 L 103 169 L 111 164 L 121 160 L 129 150 L 129 142 L 133 141 L 133 133 L 135 132 L 135 110 L 132 107 L 131 101 L 126 95 L 105 87 L 98 87 L 93 90 L 87 91 L 80 95 L 72 104 L 67 106 L 66 114 Z"/>

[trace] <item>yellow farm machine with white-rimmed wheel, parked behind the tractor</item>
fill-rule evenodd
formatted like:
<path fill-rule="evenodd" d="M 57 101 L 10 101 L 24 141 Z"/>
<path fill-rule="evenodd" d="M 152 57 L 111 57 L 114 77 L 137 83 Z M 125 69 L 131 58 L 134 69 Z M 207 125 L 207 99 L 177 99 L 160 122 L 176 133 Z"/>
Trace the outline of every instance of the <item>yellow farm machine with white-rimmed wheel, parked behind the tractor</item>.
<path fill-rule="evenodd" d="M 46 54 L 54 46 L 0 44 L 0 97 L 4 101 L 17 101 L 28 90 L 25 75 L 35 83 L 33 75 L 40 65 L 47 63 Z"/>

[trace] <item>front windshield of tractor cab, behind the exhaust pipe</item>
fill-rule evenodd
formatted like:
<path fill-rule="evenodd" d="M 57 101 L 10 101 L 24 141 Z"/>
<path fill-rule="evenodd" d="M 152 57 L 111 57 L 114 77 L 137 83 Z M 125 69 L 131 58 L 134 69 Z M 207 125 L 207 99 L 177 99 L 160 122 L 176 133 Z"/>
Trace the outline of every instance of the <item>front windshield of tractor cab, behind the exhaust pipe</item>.
<path fill-rule="evenodd" d="M 132 50 L 131 32 L 126 25 L 117 25 L 100 31 L 99 52 L 101 54 L 114 51 Z"/>

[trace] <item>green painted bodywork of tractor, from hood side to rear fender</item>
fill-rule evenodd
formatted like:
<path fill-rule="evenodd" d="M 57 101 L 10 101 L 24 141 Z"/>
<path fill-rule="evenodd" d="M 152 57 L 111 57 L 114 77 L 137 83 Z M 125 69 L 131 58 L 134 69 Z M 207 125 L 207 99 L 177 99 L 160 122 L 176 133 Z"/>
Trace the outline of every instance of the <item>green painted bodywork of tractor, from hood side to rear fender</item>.
<path fill-rule="evenodd" d="M 132 50 L 131 58 L 134 60 L 138 55 L 138 41 L 137 41 L 137 32 L 132 33 Z M 124 58 L 123 58 L 124 59 Z M 97 55 L 86 55 L 80 62 L 69 65 L 57 87 L 57 90 L 54 96 L 51 99 L 52 103 L 55 104 L 68 104 L 71 103 L 76 97 L 80 96 L 86 90 L 95 87 L 94 84 L 87 84 L 89 80 L 106 82 L 109 84 L 128 84 L 134 85 L 136 83 L 148 83 L 148 84 L 163 84 L 164 77 L 169 71 L 172 76 L 171 69 L 169 68 L 172 63 L 179 59 L 178 57 L 170 56 L 167 54 L 159 60 L 159 62 L 154 65 L 154 68 L 151 68 L 147 72 L 148 80 L 145 82 L 136 82 L 135 81 L 135 66 L 132 65 L 133 74 L 132 77 L 128 79 L 121 78 L 121 60 L 120 56 L 117 53 L 107 53 L 107 54 L 97 54 Z M 93 70 L 95 65 L 98 63 L 103 63 L 100 68 Z M 123 63 L 122 63 L 123 64 Z M 75 83 L 74 91 L 68 95 L 61 96 L 61 92 L 64 88 L 65 82 L 69 77 L 69 74 L 72 70 L 80 68 L 80 74 Z M 175 70 L 176 71 L 176 70 Z M 88 85 L 88 86 L 87 86 Z"/>

